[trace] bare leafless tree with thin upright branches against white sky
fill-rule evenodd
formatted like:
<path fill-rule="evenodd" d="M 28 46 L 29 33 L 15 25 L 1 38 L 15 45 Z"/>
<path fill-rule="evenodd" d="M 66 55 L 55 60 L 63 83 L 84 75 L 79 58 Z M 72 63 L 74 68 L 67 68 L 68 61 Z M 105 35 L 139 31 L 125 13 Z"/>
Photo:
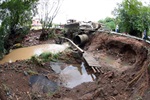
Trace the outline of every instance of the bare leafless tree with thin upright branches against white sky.
<path fill-rule="evenodd" d="M 40 18 L 42 24 L 42 34 L 40 38 L 48 35 L 49 29 L 60 10 L 62 2 L 63 0 L 39 0 L 37 16 Z"/>

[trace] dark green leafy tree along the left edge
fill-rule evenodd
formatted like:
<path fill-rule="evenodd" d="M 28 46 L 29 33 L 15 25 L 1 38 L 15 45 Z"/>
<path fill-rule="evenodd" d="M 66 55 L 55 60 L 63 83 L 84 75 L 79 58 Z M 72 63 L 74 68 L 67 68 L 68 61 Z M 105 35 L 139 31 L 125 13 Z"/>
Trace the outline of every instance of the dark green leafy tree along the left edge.
<path fill-rule="evenodd" d="M 3 0 L 0 2 L 0 55 L 14 43 L 15 36 L 27 33 L 38 0 Z M 18 39 L 18 38 L 17 38 Z"/>

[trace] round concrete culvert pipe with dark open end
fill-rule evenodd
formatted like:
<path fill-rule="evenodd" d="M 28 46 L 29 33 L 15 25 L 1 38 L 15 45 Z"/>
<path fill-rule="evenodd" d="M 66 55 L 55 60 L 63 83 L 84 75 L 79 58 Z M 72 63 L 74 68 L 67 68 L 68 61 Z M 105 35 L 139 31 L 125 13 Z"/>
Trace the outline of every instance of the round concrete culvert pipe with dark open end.
<path fill-rule="evenodd" d="M 74 42 L 75 42 L 76 44 L 78 44 L 78 45 L 84 44 L 84 43 L 86 43 L 88 40 L 89 40 L 89 37 L 88 37 L 88 35 L 86 35 L 86 34 L 77 35 L 77 36 L 74 38 Z"/>

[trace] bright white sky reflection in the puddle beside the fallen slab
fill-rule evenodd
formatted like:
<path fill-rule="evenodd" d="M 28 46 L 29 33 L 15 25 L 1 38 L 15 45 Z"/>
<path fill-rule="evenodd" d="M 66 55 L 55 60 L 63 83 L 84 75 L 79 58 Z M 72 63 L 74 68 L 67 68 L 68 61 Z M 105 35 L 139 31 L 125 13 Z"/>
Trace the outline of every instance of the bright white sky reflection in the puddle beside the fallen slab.
<path fill-rule="evenodd" d="M 53 68 L 54 66 L 51 67 Z M 61 69 L 61 68 L 57 68 L 57 69 Z M 60 71 L 59 78 L 60 78 L 60 83 L 63 86 L 68 88 L 73 88 L 83 82 L 92 82 L 95 80 L 96 77 L 93 74 L 89 75 L 85 69 L 84 63 L 82 63 L 81 66 L 79 67 L 74 67 L 72 65 L 66 66 L 64 69 Z"/>

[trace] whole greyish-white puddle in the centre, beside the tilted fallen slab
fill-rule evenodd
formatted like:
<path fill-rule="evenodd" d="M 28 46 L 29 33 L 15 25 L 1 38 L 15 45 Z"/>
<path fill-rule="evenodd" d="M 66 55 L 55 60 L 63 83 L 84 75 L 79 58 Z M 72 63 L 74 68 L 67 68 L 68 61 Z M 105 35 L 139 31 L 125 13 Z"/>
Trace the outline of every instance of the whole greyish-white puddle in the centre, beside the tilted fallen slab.
<path fill-rule="evenodd" d="M 65 63 L 51 63 L 52 69 L 59 74 L 59 85 L 73 88 L 84 82 L 93 82 L 96 77 L 92 73 L 88 73 L 84 63 L 81 65 L 67 65 Z"/>

